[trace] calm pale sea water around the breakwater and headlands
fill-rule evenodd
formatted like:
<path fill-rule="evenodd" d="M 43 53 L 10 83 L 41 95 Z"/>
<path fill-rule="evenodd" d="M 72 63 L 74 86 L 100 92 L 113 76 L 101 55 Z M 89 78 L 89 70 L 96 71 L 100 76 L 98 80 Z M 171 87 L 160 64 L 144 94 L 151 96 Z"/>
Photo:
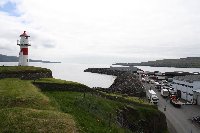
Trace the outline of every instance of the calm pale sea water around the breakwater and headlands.
<path fill-rule="evenodd" d="M 4 66 L 17 66 L 17 62 L 0 62 Z M 49 68 L 52 70 L 54 78 L 74 81 L 85 84 L 89 87 L 110 87 L 116 76 L 96 74 L 84 72 L 87 68 L 109 68 L 111 64 L 72 64 L 72 63 L 41 63 L 30 62 L 30 66 Z M 160 71 L 160 72 L 200 72 L 200 68 L 174 68 L 174 67 L 150 67 L 150 66 L 137 66 L 144 71 Z"/>

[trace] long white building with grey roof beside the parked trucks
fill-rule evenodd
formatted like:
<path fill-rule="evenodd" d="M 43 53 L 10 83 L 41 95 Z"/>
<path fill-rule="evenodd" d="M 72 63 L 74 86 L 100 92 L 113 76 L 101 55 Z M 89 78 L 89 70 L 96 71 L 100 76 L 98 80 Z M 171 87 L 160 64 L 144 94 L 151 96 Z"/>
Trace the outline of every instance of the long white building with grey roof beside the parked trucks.
<path fill-rule="evenodd" d="M 178 97 L 189 102 L 197 100 L 193 95 L 194 91 L 200 89 L 200 75 L 176 76 L 171 84 L 175 91 L 177 91 Z"/>

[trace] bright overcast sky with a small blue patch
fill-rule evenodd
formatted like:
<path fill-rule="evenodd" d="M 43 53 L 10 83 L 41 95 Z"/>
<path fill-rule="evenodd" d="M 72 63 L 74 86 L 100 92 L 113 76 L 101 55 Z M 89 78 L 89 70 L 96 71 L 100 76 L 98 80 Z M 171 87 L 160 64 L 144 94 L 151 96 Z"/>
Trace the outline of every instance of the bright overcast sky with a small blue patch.
<path fill-rule="evenodd" d="M 200 0 L 0 0 L 0 53 L 76 63 L 200 56 Z"/>

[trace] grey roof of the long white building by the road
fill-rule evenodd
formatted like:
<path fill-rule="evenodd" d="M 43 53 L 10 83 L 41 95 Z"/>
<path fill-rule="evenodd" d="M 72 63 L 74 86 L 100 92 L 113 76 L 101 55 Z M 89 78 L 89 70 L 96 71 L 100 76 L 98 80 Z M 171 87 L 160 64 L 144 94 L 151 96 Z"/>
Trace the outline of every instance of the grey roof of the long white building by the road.
<path fill-rule="evenodd" d="M 187 82 L 200 81 L 200 75 L 175 76 L 173 79 Z"/>

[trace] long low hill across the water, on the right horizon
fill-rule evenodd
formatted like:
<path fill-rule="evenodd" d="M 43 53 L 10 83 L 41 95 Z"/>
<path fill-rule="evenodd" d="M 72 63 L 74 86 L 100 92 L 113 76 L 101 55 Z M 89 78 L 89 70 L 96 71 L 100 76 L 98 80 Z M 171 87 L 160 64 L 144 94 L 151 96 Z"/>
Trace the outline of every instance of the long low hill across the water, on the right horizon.
<path fill-rule="evenodd" d="M 152 67 L 177 67 L 177 68 L 200 68 L 200 57 L 187 57 L 180 59 L 163 59 L 141 63 L 116 63 L 124 66 L 152 66 Z"/>

